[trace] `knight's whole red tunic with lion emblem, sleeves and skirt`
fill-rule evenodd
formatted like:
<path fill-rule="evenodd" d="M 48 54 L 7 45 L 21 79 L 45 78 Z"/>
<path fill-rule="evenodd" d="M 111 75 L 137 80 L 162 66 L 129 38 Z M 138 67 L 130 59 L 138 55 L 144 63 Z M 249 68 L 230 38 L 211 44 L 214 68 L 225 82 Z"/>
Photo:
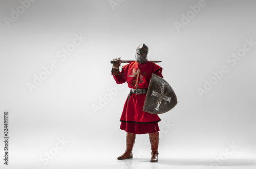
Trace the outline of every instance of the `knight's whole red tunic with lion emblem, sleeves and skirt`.
<path fill-rule="evenodd" d="M 145 62 L 139 64 L 134 61 L 122 67 L 121 75 L 113 75 L 117 84 L 127 82 L 130 88 L 148 88 L 152 73 L 162 76 L 162 68 L 153 63 Z M 121 130 L 135 134 L 152 133 L 159 131 L 158 122 L 160 118 L 156 114 L 142 111 L 146 93 L 128 95 L 120 118 Z"/>

